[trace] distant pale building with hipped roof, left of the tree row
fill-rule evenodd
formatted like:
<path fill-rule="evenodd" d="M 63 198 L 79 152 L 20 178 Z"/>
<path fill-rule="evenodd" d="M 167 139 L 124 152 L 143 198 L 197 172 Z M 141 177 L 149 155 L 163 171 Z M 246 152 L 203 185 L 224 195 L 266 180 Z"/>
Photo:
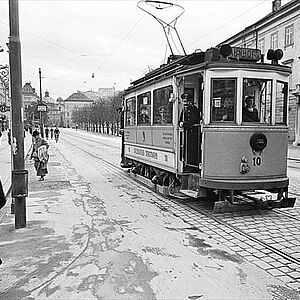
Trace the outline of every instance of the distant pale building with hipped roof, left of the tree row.
<path fill-rule="evenodd" d="M 72 112 L 80 107 L 91 105 L 94 101 L 84 95 L 82 92 L 77 91 L 69 96 L 64 101 L 64 112 L 65 112 L 65 125 L 71 127 L 73 124 Z"/>

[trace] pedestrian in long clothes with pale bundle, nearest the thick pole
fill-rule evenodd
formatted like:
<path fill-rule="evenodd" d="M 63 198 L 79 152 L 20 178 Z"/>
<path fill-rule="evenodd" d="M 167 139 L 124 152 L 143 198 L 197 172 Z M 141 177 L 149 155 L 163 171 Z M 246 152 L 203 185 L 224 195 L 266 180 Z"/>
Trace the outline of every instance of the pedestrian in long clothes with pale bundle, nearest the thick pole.
<path fill-rule="evenodd" d="M 34 160 L 36 175 L 40 176 L 40 181 L 43 181 L 46 174 L 48 174 L 48 148 L 48 142 L 41 138 L 38 131 L 34 131 L 32 133 L 32 153 L 30 158 Z"/>

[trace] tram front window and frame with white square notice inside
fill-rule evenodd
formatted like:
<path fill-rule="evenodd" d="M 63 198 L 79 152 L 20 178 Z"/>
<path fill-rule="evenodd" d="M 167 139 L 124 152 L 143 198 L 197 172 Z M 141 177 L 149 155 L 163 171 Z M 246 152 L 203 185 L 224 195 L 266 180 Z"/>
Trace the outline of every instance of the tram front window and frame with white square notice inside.
<path fill-rule="evenodd" d="M 214 85 L 217 81 L 232 81 L 233 86 L 225 84 L 223 90 L 219 94 L 214 93 Z M 227 92 L 224 91 L 227 89 Z M 232 90 L 231 90 L 232 89 Z M 231 92 L 233 91 L 233 95 Z M 231 99 L 231 103 L 229 101 Z M 233 105 L 232 105 L 233 104 Z M 227 107 L 230 105 L 229 107 Z M 237 78 L 236 77 L 220 77 L 211 78 L 211 103 L 210 103 L 210 118 L 212 123 L 236 123 L 236 106 L 237 106 Z M 216 110 L 220 108 L 219 110 Z M 232 111 L 230 111 L 230 110 Z M 230 114 L 230 116 L 228 116 Z"/>

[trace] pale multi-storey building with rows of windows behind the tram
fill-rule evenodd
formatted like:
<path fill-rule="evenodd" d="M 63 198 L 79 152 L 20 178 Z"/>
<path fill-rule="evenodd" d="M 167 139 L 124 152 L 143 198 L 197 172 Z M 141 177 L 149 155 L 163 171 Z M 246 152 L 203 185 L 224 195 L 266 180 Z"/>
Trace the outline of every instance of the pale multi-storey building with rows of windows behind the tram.
<path fill-rule="evenodd" d="M 300 1 L 281 6 L 272 2 L 272 12 L 221 44 L 257 48 L 267 57 L 268 49 L 282 49 L 280 63 L 292 68 L 289 87 L 289 141 L 300 145 Z"/>

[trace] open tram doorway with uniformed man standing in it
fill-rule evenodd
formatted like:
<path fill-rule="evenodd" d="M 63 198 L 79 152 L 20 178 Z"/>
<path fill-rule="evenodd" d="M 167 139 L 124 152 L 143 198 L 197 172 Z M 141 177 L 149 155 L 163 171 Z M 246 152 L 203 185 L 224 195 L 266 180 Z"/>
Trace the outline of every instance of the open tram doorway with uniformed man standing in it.
<path fill-rule="evenodd" d="M 202 115 L 202 80 L 199 82 L 199 93 L 194 88 L 185 88 L 184 94 L 188 94 L 189 103 L 184 105 L 179 120 L 182 121 L 181 131 L 181 160 L 184 162 L 184 172 L 199 172 L 201 162 L 201 129 Z M 183 95 L 184 95 L 183 94 Z M 185 95 L 184 95 L 185 96 Z M 182 99 L 185 104 L 185 99 Z"/>

